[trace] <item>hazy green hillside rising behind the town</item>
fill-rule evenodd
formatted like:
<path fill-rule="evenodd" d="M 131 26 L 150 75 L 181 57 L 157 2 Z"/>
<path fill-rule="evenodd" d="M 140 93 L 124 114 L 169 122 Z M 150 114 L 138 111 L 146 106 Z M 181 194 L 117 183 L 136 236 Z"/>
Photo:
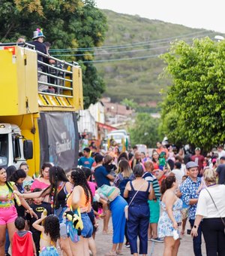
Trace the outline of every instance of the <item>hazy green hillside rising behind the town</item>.
<path fill-rule="evenodd" d="M 160 102 L 159 92 L 170 81 L 158 79 L 164 67 L 158 55 L 168 50 L 170 41 L 175 38 L 191 42 L 193 38 L 216 35 L 205 29 L 190 29 L 108 10 L 103 12 L 107 16 L 108 32 L 104 47 L 95 51 L 95 60 L 99 61 L 95 66 L 107 84 L 104 96 L 110 96 L 113 102 L 124 98 L 139 103 Z"/>

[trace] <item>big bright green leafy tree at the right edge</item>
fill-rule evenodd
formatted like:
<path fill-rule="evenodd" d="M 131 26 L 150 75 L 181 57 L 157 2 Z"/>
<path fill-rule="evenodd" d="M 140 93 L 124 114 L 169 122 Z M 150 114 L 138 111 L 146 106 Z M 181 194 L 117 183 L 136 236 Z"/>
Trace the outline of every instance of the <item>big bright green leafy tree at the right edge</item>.
<path fill-rule="evenodd" d="M 172 44 L 162 59 L 172 77 L 162 104 L 161 132 L 205 150 L 225 140 L 225 41 L 209 38 Z"/>

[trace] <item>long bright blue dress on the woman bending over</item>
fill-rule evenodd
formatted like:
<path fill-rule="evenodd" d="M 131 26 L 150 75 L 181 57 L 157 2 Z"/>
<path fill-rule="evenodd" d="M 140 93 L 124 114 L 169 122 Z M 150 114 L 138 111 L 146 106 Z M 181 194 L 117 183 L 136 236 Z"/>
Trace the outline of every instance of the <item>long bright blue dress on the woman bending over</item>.
<path fill-rule="evenodd" d="M 113 220 L 113 243 L 124 242 L 124 232 L 126 218 L 124 215 L 124 207 L 127 206 L 127 201 L 123 197 L 115 197 L 110 203 L 110 211 L 112 212 Z"/>

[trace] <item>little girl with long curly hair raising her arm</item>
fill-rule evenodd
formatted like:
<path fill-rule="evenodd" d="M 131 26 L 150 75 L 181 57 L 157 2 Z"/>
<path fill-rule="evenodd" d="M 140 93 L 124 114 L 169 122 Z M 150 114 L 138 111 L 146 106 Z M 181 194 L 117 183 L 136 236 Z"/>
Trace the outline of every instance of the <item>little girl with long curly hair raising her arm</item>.
<path fill-rule="evenodd" d="M 43 222 L 43 226 L 40 223 Z M 40 256 L 58 256 L 55 248 L 57 240 L 60 238 L 58 217 L 54 215 L 46 216 L 41 214 L 40 219 L 32 225 L 40 234 Z"/>

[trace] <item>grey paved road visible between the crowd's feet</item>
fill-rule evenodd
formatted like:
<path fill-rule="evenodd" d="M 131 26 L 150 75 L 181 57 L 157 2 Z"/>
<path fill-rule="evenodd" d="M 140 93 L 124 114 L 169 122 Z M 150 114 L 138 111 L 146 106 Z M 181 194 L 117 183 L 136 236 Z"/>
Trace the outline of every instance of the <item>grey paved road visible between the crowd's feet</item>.
<path fill-rule="evenodd" d="M 102 220 L 98 220 L 99 229 L 95 236 L 95 241 L 98 249 L 98 256 L 104 256 L 108 251 L 110 251 L 112 246 L 112 235 L 104 235 L 101 233 L 102 230 Z M 189 225 L 187 224 L 189 228 Z M 110 230 L 113 230 L 112 223 L 110 221 Z M 203 240 L 203 237 L 202 237 Z M 125 248 L 123 246 L 123 255 L 130 255 L 130 248 Z M 152 252 L 152 254 L 151 254 Z M 162 256 L 163 255 L 163 243 L 156 242 L 148 242 L 148 255 L 150 256 Z M 181 245 L 178 251 L 178 256 L 194 256 L 193 247 L 192 247 L 192 239 L 190 235 L 184 235 L 181 239 Z M 205 256 L 205 242 L 202 242 L 202 256 Z"/>

